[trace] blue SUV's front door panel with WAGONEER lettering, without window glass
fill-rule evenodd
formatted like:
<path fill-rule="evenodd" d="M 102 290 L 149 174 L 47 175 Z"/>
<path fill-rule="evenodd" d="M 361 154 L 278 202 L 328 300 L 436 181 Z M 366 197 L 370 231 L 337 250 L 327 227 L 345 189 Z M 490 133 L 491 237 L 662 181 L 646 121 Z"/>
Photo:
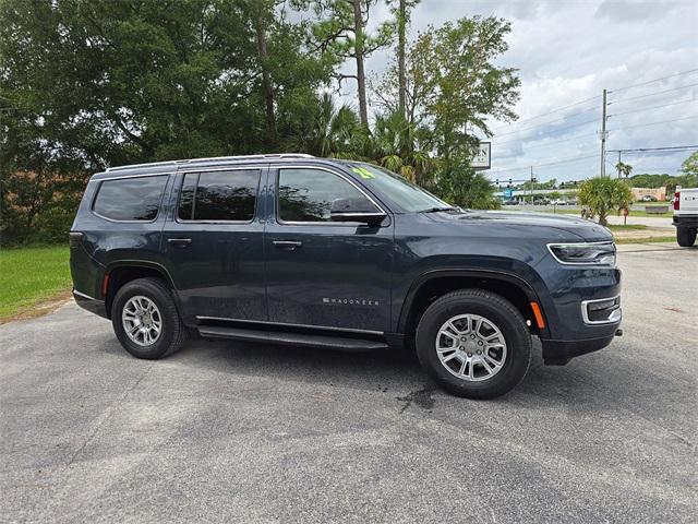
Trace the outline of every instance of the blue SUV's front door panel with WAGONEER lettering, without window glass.
<path fill-rule="evenodd" d="M 326 164 L 306 167 L 328 168 Z M 266 191 L 264 242 L 269 321 L 389 331 L 392 219 L 386 218 L 381 226 L 281 223 L 276 216 L 277 174 L 278 166 L 273 166 Z"/>

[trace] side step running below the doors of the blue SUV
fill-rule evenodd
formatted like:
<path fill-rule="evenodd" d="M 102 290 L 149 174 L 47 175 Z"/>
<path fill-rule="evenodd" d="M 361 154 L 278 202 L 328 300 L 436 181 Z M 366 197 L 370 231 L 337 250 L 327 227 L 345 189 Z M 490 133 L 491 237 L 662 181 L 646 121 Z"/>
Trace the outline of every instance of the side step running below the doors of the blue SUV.
<path fill-rule="evenodd" d="M 280 333 L 277 331 L 245 330 L 241 327 L 222 327 L 218 325 L 200 325 L 198 334 L 213 338 L 230 338 L 233 341 L 260 342 L 263 344 L 284 344 L 292 346 L 323 347 L 344 352 L 371 352 L 386 349 L 387 344 L 359 338 L 344 338 L 327 335 L 308 335 L 304 333 Z"/>

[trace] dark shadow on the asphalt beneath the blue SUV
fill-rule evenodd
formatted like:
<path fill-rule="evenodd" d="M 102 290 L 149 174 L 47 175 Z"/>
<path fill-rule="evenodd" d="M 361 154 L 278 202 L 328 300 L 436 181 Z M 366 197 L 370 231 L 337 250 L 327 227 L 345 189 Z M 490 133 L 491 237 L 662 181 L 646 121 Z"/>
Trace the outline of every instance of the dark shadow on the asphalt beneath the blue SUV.
<path fill-rule="evenodd" d="M 98 347 L 110 358 L 134 360 L 116 338 L 109 337 Z M 627 382 L 618 386 L 615 380 L 605 380 L 607 365 L 594 360 L 573 360 L 565 367 L 544 366 L 540 342 L 534 338 L 530 368 L 524 381 L 506 395 L 488 402 L 493 407 L 516 403 L 524 407 L 544 404 L 577 412 L 605 410 L 613 409 L 611 404 L 631 402 L 638 395 L 639 392 L 628 388 Z M 412 398 L 410 395 L 417 395 L 417 398 L 420 392 L 429 391 L 437 398 L 460 401 L 440 390 L 421 369 L 417 356 L 407 349 L 354 353 L 194 337 L 179 352 L 155 362 L 155 366 L 159 365 L 174 366 L 178 372 L 182 372 L 181 368 L 189 369 L 185 374 L 195 369 L 204 374 L 215 371 L 230 377 L 291 381 L 309 386 L 389 391 L 401 398 Z M 594 372 L 597 365 L 599 372 Z M 628 365 L 631 364 L 624 362 L 623 373 L 634 374 L 627 369 Z M 609 402 L 610 397 L 613 402 Z"/>

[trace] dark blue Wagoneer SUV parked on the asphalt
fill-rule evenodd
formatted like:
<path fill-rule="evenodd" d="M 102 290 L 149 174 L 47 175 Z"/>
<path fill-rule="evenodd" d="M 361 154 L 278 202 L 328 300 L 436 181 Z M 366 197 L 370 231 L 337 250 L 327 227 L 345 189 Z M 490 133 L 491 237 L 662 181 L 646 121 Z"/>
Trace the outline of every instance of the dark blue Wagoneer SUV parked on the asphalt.
<path fill-rule="evenodd" d="M 447 391 L 493 397 L 619 334 L 607 229 L 453 207 L 371 164 L 253 155 L 92 177 L 71 234 L 74 297 L 123 347 L 191 332 L 328 349 L 417 350 Z"/>

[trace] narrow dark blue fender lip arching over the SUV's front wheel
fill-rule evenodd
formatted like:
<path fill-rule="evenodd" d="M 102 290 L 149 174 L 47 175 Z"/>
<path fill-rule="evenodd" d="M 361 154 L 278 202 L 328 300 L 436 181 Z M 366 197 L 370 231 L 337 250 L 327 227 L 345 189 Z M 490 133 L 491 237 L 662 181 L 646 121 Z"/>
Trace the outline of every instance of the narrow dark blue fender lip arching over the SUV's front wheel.
<path fill-rule="evenodd" d="M 410 311 L 412 309 L 412 305 L 414 302 L 414 297 L 417 297 L 419 290 L 422 288 L 424 284 L 430 281 L 443 277 L 469 277 L 469 278 L 489 278 L 493 281 L 506 282 L 508 284 L 515 285 L 518 289 L 520 289 L 529 299 L 529 301 L 534 301 L 541 303 L 540 298 L 533 287 L 521 276 L 509 273 L 502 270 L 483 270 L 483 269 L 467 269 L 467 267 L 446 267 L 440 270 L 430 270 L 421 275 L 419 275 L 412 285 L 410 286 L 407 296 L 405 297 L 405 301 L 402 302 L 402 309 L 400 311 L 400 317 L 398 320 L 397 332 L 405 333 L 407 329 L 407 321 L 409 319 Z M 543 311 L 544 314 L 544 311 Z M 545 322 L 545 327 L 541 330 L 541 334 L 547 334 L 547 322 Z"/>

